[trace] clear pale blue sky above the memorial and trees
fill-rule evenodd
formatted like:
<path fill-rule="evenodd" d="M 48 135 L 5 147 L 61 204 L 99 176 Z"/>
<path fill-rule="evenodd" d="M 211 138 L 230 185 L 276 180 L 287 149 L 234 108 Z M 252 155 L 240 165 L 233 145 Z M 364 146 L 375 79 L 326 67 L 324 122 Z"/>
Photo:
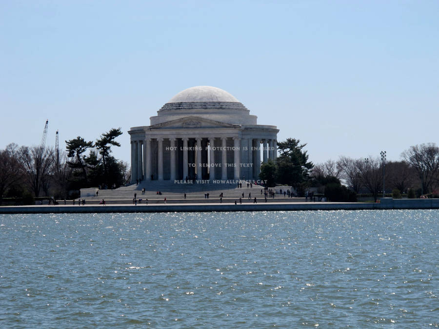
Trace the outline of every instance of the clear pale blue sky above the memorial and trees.
<path fill-rule="evenodd" d="M 237 97 L 315 163 L 439 139 L 439 1 L 0 2 L 0 148 L 127 131 L 181 90 Z"/>

